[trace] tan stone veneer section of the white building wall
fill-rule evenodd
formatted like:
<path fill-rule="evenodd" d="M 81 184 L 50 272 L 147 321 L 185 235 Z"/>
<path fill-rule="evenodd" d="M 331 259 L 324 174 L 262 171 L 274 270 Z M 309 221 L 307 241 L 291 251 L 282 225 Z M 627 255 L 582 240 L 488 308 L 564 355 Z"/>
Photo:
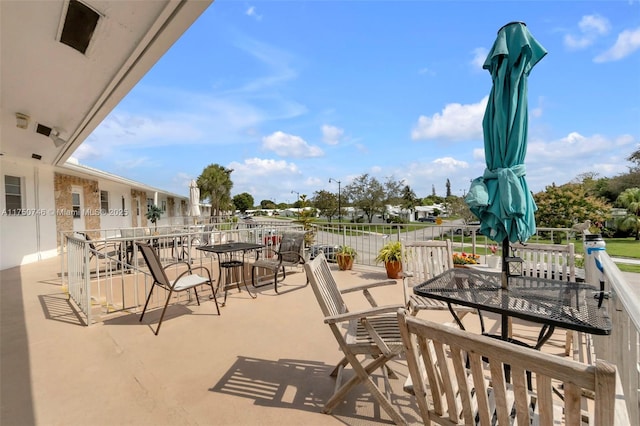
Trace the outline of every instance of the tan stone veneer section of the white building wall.
<path fill-rule="evenodd" d="M 82 208 L 91 211 L 100 211 L 100 190 L 98 189 L 98 181 L 81 178 L 78 176 L 70 176 L 62 173 L 54 173 L 53 190 L 57 212 L 71 212 L 72 197 L 71 190 L 73 186 L 82 187 L 82 198 L 84 205 Z M 84 229 L 100 229 L 100 215 L 89 214 L 83 215 Z M 58 245 L 61 245 L 60 232 L 73 231 L 73 216 L 71 214 L 56 214 L 56 239 Z M 88 232 L 89 238 L 100 238 L 99 232 Z"/>

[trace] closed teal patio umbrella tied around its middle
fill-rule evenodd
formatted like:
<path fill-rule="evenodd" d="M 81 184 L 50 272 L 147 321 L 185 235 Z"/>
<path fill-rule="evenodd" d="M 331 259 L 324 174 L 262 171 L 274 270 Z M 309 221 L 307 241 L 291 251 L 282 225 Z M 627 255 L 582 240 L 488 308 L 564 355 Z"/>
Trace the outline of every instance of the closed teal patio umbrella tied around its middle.
<path fill-rule="evenodd" d="M 527 79 L 547 54 L 527 26 L 511 22 L 498 31 L 483 68 L 493 87 L 482 121 L 487 168 L 465 198 L 480 219 L 480 232 L 494 241 L 525 242 L 536 232 L 538 209 L 525 180 Z M 507 253 L 503 250 L 503 256 Z"/>

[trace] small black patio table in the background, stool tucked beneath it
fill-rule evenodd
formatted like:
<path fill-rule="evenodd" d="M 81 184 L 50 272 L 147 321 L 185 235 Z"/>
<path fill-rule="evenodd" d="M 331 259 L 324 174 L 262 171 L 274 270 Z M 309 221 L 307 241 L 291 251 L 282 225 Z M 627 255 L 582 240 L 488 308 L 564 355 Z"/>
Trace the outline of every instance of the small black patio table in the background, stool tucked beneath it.
<path fill-rule="evenodd" d="M 218 257 L 218 286 L 222 285 L 222 271 L 225 270 L 225 283 L 224 283 L 224 301 L 222 306 L 227 303 L 227 290 L 228 284 L 231 282 L 233 271 L 238 271 L 239 276 L 236 281 L 238 291 L 240 290 L 240 281 L 244 284 L 245 289 L 249 293 L 249 296 L 256 298 L 256 295 L 251 293 L 249 287 L 247 287 L 247 281 L 244 274 L 245 255 L 249 251 L 260 250 L 264 247 L 263 244 L 256 243 L 242 243 L 242 242 L 228 242 L 224 244 L 214 244 L 210 246 L 196 247 L 197 250 L 202 250 L 210 253 L 215 253 Z"/>

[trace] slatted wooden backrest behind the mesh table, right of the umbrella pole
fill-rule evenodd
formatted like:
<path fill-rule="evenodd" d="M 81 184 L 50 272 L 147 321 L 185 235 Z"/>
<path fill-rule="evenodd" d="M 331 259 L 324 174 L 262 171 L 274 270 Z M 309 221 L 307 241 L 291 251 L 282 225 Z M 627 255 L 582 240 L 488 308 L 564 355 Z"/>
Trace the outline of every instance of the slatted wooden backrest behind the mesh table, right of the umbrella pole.
<path fill-rule="evenodd" d="M 541 276 L 563 281 L 576 280 L 574 250 L 573 243 L 511 244 L 512 254 L 524 261 L 522 275 Z"/>

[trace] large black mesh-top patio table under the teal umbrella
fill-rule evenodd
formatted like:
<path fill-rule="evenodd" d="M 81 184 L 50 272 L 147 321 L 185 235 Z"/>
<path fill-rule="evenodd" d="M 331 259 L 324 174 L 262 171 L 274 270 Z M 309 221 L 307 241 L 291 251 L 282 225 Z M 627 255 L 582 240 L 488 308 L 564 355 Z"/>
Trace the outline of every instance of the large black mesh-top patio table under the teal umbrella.
<path fill-rule="evenodd" d="M 415 286 L 413 291 L 419 296 L 446 302 L 462 329 L 452 304 L 477 309 L 483 333 L 482 311 L 542 324 L 536 349 L 544 345 L 556 327 L 596 335 L 611 334 L 611 319 L 594 298 L 600 291 L 596 287 L 523 276 L 509 277 L 506 289 L 501 283 L 501 273 L 454 268 Z M 504 327 L 499 337 L 510 340 Z"/>

